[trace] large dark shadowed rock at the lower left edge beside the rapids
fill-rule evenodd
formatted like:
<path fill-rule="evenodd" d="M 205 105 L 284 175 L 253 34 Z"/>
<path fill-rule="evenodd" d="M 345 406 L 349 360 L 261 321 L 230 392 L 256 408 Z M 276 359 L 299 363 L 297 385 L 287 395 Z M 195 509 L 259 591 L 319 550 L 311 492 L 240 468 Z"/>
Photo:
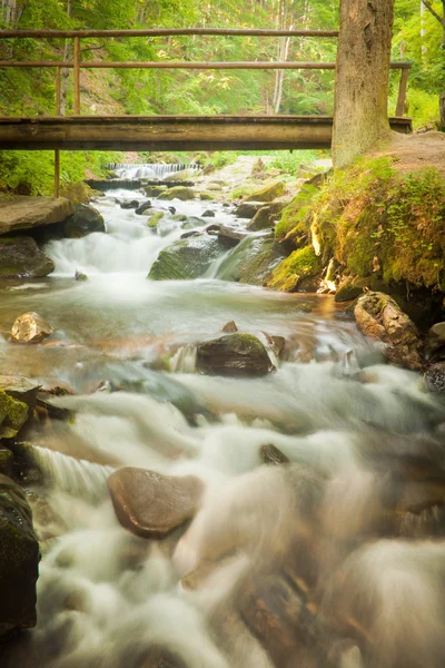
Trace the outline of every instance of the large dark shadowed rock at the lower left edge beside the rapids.
<path fill-rule="evenodd" d="M 24 492 L 0 475 L 0 639 L 36 626 L 39 543 Z"/>

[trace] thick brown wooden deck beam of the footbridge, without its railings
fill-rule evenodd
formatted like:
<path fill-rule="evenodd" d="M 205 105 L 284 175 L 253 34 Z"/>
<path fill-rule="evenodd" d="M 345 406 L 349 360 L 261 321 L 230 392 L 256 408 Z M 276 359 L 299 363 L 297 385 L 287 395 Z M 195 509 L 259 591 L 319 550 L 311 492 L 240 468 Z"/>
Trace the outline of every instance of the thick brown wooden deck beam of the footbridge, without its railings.
<path fill-rule="evenodd" d="M 392 118 L 409 132 L 409 118 Z M 0 149 L 249 150 L 330 148 L 330 116 L 0 117 Z"/>

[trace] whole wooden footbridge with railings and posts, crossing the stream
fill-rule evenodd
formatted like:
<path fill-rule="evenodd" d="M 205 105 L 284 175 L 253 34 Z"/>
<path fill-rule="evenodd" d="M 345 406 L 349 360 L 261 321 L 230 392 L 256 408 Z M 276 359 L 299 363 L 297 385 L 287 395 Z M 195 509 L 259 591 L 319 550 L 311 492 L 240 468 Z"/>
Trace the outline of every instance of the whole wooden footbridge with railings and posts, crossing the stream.
<path fill-rule="evenodd" d="M 151 30 L 1 30 L 0 39 L 72 39 L 72 60 L 0 61 L 0 68 L 53 68 L 56 70 L 55 116 L 0 117 L 0 149 L 56 150 L 58 183 L 59 150 L 221 150 L 330 148 L 330 116 L 85 116 L 81 115 L 80 73 L 85 69 L 196 69 L 196 70 L 335 70 L 335 62 L 110 62 L 82 60 L 81 40 L 92 38 L 156 38 L 170 36 L 257 36 L 336 38 L 336 30 L 256 29 L 151 29 Z M 409 132 L 404 117 L 409 62 L 393 62 L 400 70 L 395 116 L 390 126 Z M 61 116 L 61 77 L 73 72 L 72 116 Z"/>

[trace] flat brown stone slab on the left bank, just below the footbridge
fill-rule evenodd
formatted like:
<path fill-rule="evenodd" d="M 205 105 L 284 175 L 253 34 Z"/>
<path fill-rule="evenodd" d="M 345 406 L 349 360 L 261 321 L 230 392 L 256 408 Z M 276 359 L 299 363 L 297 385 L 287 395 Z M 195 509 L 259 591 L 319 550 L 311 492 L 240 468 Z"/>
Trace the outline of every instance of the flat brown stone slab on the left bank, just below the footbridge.
<path fill-rule="evenodd" d="M 66 220 L 73 205 L 65 197 L 11 197 L 0 203 L 0 235 Z"/>

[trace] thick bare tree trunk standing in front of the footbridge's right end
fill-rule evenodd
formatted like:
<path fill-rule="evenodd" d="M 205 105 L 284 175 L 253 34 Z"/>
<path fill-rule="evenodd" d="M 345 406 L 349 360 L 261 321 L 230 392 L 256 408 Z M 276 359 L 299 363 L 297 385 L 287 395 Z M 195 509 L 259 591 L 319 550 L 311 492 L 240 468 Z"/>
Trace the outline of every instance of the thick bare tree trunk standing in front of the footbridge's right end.
<path fill-rule="evenodd" d="M 394 0 L 342 0 L 335 90 L 336 167 L 389 134 L 388 81 Z"/>

